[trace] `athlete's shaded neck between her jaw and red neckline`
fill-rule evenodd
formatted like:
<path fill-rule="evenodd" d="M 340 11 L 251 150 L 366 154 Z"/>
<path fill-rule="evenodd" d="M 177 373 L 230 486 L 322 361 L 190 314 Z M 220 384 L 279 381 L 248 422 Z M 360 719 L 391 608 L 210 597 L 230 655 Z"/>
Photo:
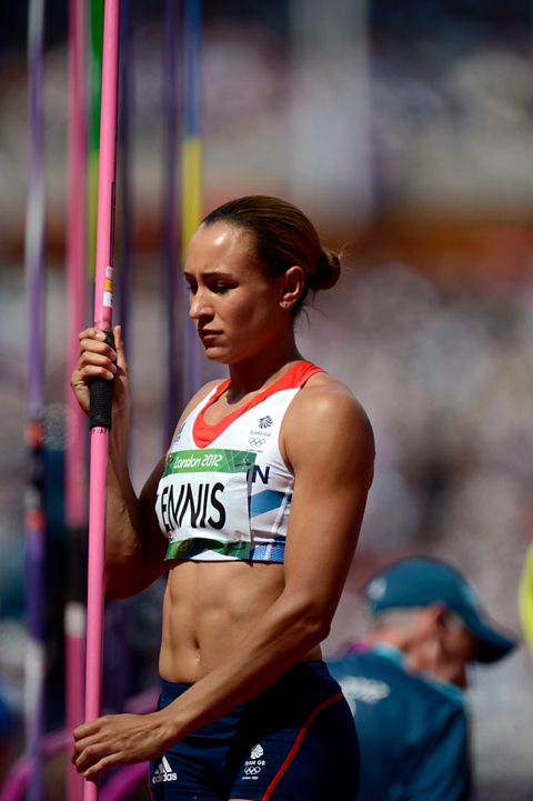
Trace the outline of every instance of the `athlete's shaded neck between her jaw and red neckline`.
<path fill-rule="evenodd" d="M 264 352 L 253 360 L 230 364 L 231 383 L 228 391 L 228 401 L 237 403 L 244 396 L 270 387 L 283 374 L 288 364 L 301 359 L 302 356 L 294 339 L 292 339 L 283 350 L 272 349 L 271 352 Z"/>

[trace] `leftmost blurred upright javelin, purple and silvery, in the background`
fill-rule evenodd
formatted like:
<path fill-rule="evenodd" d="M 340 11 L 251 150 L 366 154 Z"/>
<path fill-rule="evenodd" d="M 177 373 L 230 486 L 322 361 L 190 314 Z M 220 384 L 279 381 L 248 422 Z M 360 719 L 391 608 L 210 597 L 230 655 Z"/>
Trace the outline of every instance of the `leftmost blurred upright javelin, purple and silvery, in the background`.
<path fill-rule="evenodd" d="M 43 798 L 41 738 L 44 729 L 44 462 L 43 462 L 43 283 L 44 174 L 42 112 L 43 0 L 31 0 L 28 27 L 29 67 L 29 186 L 26 219 L 26 280 L 28 290 L 28 423 L 29 481 L 24 497 L 27 547 L 28 642 L 24 662 L 27 747 L 33 758 L 30 801 Z"/>

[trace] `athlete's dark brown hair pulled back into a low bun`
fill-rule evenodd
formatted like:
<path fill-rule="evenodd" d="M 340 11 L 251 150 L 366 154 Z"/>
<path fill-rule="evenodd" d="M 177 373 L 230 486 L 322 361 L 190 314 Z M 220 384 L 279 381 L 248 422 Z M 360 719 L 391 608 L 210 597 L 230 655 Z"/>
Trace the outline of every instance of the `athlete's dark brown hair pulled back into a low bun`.
<path fill-rule="evenodd" d="M 249 231 L 255 254 L 270 276 L 282 276 L 298 264 L 305 277 L 298 312 L 308 292 L 330 289 L 341 272 L 339 256 L 322 248 L 311 220 L 295 206 L 269 194 L 248 194 L 230 200 L 207 214 L 202 223 L 225 221 Z"/>

